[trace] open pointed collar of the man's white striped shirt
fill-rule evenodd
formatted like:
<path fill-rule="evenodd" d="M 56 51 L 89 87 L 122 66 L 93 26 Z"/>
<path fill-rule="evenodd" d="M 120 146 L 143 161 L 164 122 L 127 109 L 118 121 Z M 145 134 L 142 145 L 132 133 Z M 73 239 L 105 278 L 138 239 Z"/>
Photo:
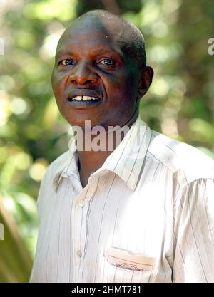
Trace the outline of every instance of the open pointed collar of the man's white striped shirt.
<path fill-rule="evenodd" d="M 133 191 L 138 182 L 143 160 L 151 140 L 151 130 L 138 115 L 136 122 L 128 130 L 121 143 L 109 155 L 103 166 L 92 175 L 98 174 L 102 170 L 115 172 L 127 186 Z M 69 151 L 67 159 L 62 162 L 57 172 L 54 174 L 53 186 L 57 190 L 58 184 L 63 177 L 79 178 L 76 141 L 71 137 L 69 141 Z"/>

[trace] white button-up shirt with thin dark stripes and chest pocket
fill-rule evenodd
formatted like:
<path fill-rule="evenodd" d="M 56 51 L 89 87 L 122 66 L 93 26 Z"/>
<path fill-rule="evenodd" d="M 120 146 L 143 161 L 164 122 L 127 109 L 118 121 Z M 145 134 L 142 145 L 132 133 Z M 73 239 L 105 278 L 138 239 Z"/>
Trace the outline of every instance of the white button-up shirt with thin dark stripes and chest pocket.
<path fill-rule="evenodd" d="M 84 188 L 71 141 L 46 170 L 37 202 L 31 282 L 214 281 L 214 162 L 140 117 Z M 110 247 L 154 265 L 112 264 Z"/>

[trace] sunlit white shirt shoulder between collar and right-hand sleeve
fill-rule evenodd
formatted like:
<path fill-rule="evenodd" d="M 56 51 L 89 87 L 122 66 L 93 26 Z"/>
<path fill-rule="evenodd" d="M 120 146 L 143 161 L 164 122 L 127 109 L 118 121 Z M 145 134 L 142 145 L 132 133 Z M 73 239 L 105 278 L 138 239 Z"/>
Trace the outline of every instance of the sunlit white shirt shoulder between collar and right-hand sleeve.
<path fill-rule="evenodd" d="M 180 184 L 214 179 L 214 160 L 195 147 L 152 131 L 148 157 L 176 174 Z"/>

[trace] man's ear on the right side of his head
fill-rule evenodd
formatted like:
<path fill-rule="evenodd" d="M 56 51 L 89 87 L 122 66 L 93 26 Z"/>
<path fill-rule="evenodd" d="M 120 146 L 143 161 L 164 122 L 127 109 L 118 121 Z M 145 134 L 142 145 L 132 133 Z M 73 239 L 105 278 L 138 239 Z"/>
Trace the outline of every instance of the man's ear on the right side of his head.
<path fill-rule="evenodd" d="M 138 84 L 138 99 L 146 94 L 153 80 L 154 71 L 150 66 L 143 67 L 141 71 L 141 79 Z"/>

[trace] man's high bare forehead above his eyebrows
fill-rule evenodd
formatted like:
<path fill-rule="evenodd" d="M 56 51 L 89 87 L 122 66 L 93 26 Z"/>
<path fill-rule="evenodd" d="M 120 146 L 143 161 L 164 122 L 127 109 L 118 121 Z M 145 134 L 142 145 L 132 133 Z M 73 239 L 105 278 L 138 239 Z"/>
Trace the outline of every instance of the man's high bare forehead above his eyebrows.
<path fill-rule="evenodd" d="M 124 36 L 113 21 L 86 18 L 77 20 L 60 38 L 56 53 L 77 51 L 115 51 L 123 55 Z"/>

